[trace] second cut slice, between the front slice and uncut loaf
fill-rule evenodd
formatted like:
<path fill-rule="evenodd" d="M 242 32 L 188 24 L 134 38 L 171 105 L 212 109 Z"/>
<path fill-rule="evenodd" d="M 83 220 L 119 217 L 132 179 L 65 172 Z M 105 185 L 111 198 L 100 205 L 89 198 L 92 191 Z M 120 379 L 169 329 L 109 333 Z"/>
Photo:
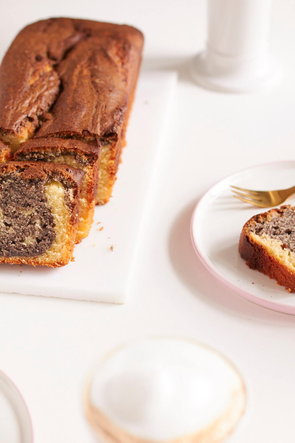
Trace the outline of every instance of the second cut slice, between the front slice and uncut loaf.
<path fill-rule="evenodd" d="M 100 146 L 96 140 L 83 143 L 80 140 L 62 138 L 34 138 L 23 143 L 15 160 L 64 163 L 84 171 L 80 186 L 79 224 L 76 243 L 88 236 L 93 222 L 96 204 Z"/>

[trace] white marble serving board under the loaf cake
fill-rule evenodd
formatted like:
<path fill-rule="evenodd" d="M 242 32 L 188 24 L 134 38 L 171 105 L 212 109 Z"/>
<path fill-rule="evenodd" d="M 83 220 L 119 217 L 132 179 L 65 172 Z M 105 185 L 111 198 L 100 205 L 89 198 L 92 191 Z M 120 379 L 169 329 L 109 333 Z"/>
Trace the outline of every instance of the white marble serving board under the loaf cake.
<path fill-rule="evenodd" d="M 91 232 L 75 248 L 75 261 L 55 269 L 2 264 L 1 292 L 126 301 L 153 166 L 175 86 L 174 72 L 141 74 L 112 198 L 107 205 L 96 206 Z"/>

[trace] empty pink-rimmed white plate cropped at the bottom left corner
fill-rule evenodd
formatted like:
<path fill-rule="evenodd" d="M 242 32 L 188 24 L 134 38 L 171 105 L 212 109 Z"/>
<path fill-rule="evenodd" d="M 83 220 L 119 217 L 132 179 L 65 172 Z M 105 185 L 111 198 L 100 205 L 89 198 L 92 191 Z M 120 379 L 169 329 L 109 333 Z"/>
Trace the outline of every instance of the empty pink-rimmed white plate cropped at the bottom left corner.
<path fill-rule="evenodd" d="M 29 412 L 12 381 L 0 371 L 0 442 L 32 443 Z"/>

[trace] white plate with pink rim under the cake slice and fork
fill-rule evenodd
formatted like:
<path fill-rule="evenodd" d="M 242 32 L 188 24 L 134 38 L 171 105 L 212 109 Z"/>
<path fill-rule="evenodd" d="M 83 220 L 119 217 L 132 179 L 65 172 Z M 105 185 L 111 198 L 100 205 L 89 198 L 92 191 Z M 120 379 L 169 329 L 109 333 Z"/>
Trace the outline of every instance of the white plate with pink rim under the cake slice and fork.
<path fill-rule="evenodd" d="M 201 198 L 192 215 L 195 252 L 222 282 L 246 299 L 275 311 L 295 315 L 295 293 L 261 272 L 249 269 L 238 253 L 241 229 L 253 215 L 271 208 L 257 208 L 233 198 L 230 185 L 259 190 L 285 189 L 295 184 L 295 161 L 254 166 L 230 175 Z M 295 195 L 283 204 L 295 206 Z"/>

